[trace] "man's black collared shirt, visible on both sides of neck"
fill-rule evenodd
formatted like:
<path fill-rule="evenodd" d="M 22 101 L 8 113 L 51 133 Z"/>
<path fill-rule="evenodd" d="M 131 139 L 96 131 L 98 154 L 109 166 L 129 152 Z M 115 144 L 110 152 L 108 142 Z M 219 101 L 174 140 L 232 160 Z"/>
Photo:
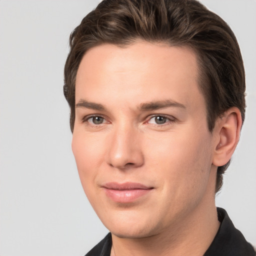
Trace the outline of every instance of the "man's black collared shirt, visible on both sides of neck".
<path fill-rule="evenodd" d="M 217 208 L 219 229 L 203 256 L 255 256 L 256 253 L 242 233 L 237 230 L 226 211 Z M 85 256 L 110 256 L 112 246 L 111 233 L 108 233 Z"/>

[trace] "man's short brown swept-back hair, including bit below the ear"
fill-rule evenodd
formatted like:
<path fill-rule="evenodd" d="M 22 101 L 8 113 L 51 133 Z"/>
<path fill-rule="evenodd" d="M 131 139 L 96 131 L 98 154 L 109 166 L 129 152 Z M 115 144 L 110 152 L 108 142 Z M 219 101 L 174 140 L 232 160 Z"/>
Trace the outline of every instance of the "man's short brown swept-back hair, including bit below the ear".
<path fill-rule="evenodd" d="M 244 67 L 237 40 L 224 20 L 196 0 L 103 0 L 70 34 L 63 90 L 71 131 L 76 72 L 84 53 L 102 43 L 124 46 L 138 39 L 188 46 L 197 53 L 209 131 L 232 106 L 239 108 L 244 120 Z M 217 169 L 216 192 L 229 162 Z"/>

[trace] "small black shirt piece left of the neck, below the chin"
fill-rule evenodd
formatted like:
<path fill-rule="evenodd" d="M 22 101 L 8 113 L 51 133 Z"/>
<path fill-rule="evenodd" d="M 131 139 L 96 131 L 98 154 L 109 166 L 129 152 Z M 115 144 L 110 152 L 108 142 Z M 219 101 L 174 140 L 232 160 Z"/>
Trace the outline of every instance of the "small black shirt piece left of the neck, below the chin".
<path fill-rule="evenodd" d="M 111 233 L 108 233 L 98 244 L 87 252 L 85 256 L 110 256 L 111 246 Z"/>

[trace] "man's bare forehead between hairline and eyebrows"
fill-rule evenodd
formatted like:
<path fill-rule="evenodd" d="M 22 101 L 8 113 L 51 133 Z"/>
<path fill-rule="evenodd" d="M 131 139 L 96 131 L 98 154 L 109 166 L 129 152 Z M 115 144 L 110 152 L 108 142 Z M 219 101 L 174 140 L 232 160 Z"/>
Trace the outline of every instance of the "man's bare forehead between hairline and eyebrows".
<path fill-rule="evenodd" d="M 80 62 L 75 101 L 85 97 L 108 104 L 110 100 L 139 104 L 168 97 L 188 103 L 200 94 L 197 77 L 196 54 L 188 47 L 102 44 L 90 48 Z"/>

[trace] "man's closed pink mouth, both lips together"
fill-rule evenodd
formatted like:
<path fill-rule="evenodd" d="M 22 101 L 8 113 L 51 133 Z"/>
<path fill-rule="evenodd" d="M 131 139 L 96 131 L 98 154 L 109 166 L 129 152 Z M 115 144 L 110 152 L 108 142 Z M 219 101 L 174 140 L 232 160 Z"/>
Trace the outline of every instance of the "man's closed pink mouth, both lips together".
<path fill-rule="evenodd" d="M 118 203 L 129 203 L 146 196 L 153 187 L 134 182 L 108 182 L 102 185 L 107 197 Z"/>

